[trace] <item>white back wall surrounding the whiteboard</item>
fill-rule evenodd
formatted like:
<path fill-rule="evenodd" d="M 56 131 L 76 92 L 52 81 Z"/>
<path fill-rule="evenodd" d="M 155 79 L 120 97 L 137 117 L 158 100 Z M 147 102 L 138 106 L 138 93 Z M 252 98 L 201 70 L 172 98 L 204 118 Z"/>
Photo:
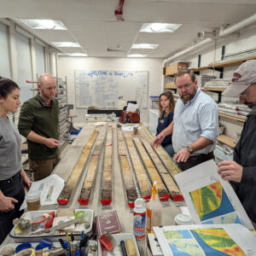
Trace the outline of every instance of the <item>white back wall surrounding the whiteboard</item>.
<path fill-rule="evenodd" d="M 148 71 L 148 96 L 158 96 L 162 84 L 163 59 L 149 58 L 90 58 L 58 56 L 58 76 L 65 79 L 67 76 L 67 101 L 73 104 L 71 113 L 78 117 L 74 122 L 84 122 L 84 114 L 87 108 L 76 108 L 75 104 L 75 70 L 118 70 L 118 71 Z M 149 100 L 148 100 L 149 107 Z M 141 120 L 148 125 L 148 108 L 141 109 Z"/>

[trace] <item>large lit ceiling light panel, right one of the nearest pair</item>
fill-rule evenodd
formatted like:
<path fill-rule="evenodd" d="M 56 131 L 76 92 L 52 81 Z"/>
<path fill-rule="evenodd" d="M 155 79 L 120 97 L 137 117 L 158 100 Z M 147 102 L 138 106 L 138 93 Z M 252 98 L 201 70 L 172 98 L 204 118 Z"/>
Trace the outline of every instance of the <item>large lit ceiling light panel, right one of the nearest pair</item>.
<path fill-rule="evenodd" d="M 144 23 L 140 29 L 140 32 L 148 33 L 172 33 L 177 30 L 182 24 L 172 24 L 172 23 Z"/>

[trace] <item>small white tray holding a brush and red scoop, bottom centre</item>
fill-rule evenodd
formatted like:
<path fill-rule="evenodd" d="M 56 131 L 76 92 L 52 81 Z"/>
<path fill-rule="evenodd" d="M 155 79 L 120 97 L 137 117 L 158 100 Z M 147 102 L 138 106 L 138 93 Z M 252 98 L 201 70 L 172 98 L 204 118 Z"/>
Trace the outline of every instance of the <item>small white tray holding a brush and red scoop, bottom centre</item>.
<path fill-rule="evenodd" d="M 140 252 L 137 246 L 137 240 L 135 238 L 135 236 L 131 233 L 120 233 L 120 234 L 112 234 L 112 236 L 114 237 L 115 241 L 117 242 L 118 246 L 115 247 L 113 249 L 113 251 L 108 252 L 108 253 L 104 253 L 104 256 L 120 256 L 123 255 L 121 248 L 120 248 L 120 241 L 125 241 L 127 239 L 131 239 L 131 241 L 133 241 L 135 249 L 136 249 L 136 253 L 137 256 L 140 256 Z M 98 242 L 98 256 L 102 256 L 102 247 L 101 247 L 101 243 L 100 241 Z"/>

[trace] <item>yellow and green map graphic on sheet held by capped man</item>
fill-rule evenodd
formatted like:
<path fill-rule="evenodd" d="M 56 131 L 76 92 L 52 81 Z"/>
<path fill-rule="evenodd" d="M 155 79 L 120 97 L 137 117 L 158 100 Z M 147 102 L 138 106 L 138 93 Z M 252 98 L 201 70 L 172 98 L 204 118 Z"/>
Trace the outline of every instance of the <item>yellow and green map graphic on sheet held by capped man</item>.
<path fill-rule="evenodd" d="M 212 183 L 189 192 L 201 221 L 235 212 L 221 183 Z M 239 221 L 238 221 L 239 222 Z"/>

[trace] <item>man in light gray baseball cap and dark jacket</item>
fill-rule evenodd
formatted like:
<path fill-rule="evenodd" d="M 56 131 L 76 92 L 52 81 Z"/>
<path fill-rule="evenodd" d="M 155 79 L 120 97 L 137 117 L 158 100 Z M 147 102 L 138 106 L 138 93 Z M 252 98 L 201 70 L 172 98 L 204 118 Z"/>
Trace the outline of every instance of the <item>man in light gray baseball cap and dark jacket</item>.
<path fill-rule="evenodd" d="M 256 60 L 246 61 L 233 74 L 224 96 L 239 96 L 252 111 L 247 115 L 233 161 L 218 164 L 218 174 L 229 180 L 256 229 Z"/>

